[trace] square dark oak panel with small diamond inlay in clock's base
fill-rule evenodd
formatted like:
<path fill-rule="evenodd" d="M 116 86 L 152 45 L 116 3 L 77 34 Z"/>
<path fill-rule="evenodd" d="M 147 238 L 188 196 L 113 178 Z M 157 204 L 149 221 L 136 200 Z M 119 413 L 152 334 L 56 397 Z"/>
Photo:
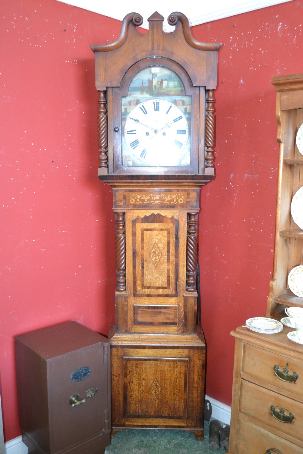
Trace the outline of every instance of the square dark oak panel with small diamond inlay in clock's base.
<path fill-rule="evenodd" d="M 188 358 L 124 357 L 123 369 L 124 416 L 187 417 Z"/>

